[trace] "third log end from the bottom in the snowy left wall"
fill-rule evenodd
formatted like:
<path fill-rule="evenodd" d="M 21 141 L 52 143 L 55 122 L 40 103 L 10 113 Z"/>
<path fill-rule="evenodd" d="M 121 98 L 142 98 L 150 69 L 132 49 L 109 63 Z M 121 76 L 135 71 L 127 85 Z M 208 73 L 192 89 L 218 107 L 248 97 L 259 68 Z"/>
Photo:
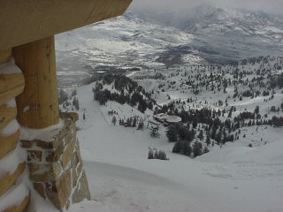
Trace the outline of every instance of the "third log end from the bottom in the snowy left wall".
<path fill-rule="evenodd" d="M 0 160 L 17 147 L 19 134 L 19 130 L 5 137 L 0 134 Z"/>

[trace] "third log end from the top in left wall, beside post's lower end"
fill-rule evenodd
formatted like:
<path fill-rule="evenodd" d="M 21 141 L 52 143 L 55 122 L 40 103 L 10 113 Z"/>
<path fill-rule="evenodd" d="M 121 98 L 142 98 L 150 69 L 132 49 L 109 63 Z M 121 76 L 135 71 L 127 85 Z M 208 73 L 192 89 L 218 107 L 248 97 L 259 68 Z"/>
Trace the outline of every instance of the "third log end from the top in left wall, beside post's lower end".
<path fill-rule="evenodd" d="M 17 117 L 17 107 L 0 106 L 0 130 Z"/>

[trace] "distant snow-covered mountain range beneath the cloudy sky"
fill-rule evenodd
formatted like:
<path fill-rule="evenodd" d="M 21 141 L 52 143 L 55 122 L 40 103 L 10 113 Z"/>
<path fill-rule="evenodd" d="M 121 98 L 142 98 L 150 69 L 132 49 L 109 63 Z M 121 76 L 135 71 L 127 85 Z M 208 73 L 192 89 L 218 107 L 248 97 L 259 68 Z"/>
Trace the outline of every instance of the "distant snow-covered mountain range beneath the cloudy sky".
<path fill-rule="evenodd" d="M 58 78 L 83 79 L 109 66 L 115 70 L 223 64 L 283 53 L 283 19 L 279 16 L 210 6 L 174 15 L 154 14 L 129 11 L 57 35 Z"/>

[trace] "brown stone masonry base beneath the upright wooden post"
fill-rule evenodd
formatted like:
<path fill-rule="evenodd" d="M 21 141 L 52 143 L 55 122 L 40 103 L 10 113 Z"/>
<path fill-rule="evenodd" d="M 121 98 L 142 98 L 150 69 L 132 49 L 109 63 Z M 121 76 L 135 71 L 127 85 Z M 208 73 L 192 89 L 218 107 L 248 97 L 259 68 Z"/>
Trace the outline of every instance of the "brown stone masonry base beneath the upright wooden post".
<path fill-rule="evenodd" d="M 34 190 L 49 199 L 59 210 L 90 199 L 88 178 L 83 170 L 80 146 L 74 123 L 75 113 L 63 113 L 63 129 L 47 142 L 20 140 L 27 149 L 27 167 Z"/>

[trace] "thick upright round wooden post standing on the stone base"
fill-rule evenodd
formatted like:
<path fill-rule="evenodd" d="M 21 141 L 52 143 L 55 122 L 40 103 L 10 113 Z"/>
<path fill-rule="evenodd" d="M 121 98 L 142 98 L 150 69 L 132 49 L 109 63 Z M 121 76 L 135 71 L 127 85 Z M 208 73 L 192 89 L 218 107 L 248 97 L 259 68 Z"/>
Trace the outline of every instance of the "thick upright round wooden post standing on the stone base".
<path fill-rule="evenodd" d="M 13 48 L 24 74 L 24 92 L 17 97 L 18 121 L 42 129 L 59 122 L 54 36 Z"/>

